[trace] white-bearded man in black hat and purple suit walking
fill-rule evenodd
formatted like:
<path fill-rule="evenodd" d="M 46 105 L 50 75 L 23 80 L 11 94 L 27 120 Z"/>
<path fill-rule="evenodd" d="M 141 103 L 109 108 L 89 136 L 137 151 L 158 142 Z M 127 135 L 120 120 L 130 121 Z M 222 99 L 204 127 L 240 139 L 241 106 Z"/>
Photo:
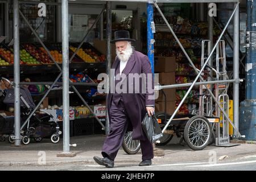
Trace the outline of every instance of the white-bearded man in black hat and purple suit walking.
<path fill-rule="evenodd" d="M 110 79 L 110 85 L 114 84 L 115 92 L 107 96 L 107 107 L 110 120 L 110 134 L 106 137 L 102 147 L 102 156 L 94 156 L 94 160 L 103 166 L 114 167 L 114 159 L 122 145 L 123 137 L 127 128 L 133 129 L 133 139 L 140 140 L 142 151 L 142 162 L 139 166 L 150 166 L 154 158 L 152 143 L 147 139 L 142 130 L 141 122 L 146 113 L 154 114 L 154 82 L 150 61 L 146 55 L 135 51 L 131 46 L 134 39 L 130 39 L 129 31 L 115 31 L 114 40 L 117 57 L 113 63 L 114 78 Z M 140 79 L 139 86 L 134 84 L 130 75 L 145 75 L 146 79 Z M 123 76 L 126 76 L 125 79 Z M 123 84 L 123 81 L 126 81 Z M 136 77 L 135 77 L 136 80 Z M 112 83 L 113 82 L 113 83 Z M 122 85 L 121 85 L 122 84 Z M 118 85 L 120 89 L 118 90 Z M 123 87 L 127 91 L 132 88 L 132 93 L 123 93 Z M 144 86 L 144 88 L 143 88 Z M 111 86 L 110 86 L 111 87 Z M 146 88 L 146 92 L 143 89 Z M 149 92 L 149 89 L 151 92 Z"/>

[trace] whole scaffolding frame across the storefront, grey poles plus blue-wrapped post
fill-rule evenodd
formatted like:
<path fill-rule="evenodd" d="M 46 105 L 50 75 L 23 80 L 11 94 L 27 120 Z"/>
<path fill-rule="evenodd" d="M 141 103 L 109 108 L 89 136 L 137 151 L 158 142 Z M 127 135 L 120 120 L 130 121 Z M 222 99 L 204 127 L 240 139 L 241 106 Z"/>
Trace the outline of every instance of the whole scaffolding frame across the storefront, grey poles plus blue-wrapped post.
<path fill-rule="evenodd" d="M 100 1 L 101 0 L 97 0 Z M 103 1 L 103 0 L 102 0 Z M 176 39 L 177 43 L 179 44 L 181 50 L 183 51 L 183 53 L 185 54 L 185 56 L 187 57 L 189 63 L 192 65 L 193 69 L 195 69 L 195 72 L 197 73 L 197 76 L 195 78 L 195 80 L 192 83 L 189 84 L 176 84 L 176 85 L 166 85 L 166 86 L 159 86 L 156 89 L 166 89 L 166 88 L 175 88 L 175 87 L 179 87 L 179 86 L 189 86 L 189 89 L 187 91 L 187 93 L 185 94 L 185 96 L 183 97 L 183 99 L 181 100 L 179 106 L 177 106 L 177 109 L 175 110 L 174 114 L 172 114 L 172 117 L 169 119 L 168 123 L 166 124 L 166 126 L 164 127 L 163 131 L 166 130 L 167 126 L 170 125 L 172 119 L 175 117 L 175 114 L 177 113 L 177 111 L 179 110 L 180 106 L 183 104 L 183 102 L 185 101 L 185 98 L 188 96 L 189 92 L 191 92 L 192 88 L 194 85 L 199 85 L 199 84 L 203 84 L 205 85 L 205 88 L 208 89 L 208 92 L 210 94 L 210 96 L 212 96 L 213 100 L 216 102 L 216 104 L 218 105 L 218 107 L 221 109 L 222 113 L 224 113 L 225 117 L 228 119 L 228 121 L 230 122 L 230 124 L 233 126 L 234 130 L 236 131 L 236 135 L 237 137 L 241 137 L 240 132 L 238 131 L 238 108 L 239 108 L 239 82 L 241 81 L 241 79 L 239 78 L 239 4 L 240 1 L 238 0 L 159 0 L 159 1 L 153 1 L 153 0 L 113 0 L 115 2 L 143 2 L 143 3 L 147 3 L 147 46 L 148 46 L 148 57 L 150 59 L 150 63 L 151 63 L 151 68 L 152 71 L 154 71 L 154 20 L 153 20 L 153 5 L 156 7 L 156 9 L 159 11 L 159 13 L 162 15 L 162 18 L 164 19 L 164 22 L 167 24 L 168 28 L 170 29 L 172 35 L 174 36 L 174 38 Z M 105 1 L 104 1 L 105 2 Z M 107 2 L 106 5 L 106 9 L 107 9 L 107 13 L 108 13 L 108 26 L 107 26 L 107 31 L 106 31 L 106 38 L 107 38 L 107 53 L 106 53 L 106 57 L 107 57 L 107 64 L 106 64 L 106 73 L 110 73 L 110 65 L 111 65 L 111 50 L 110 50 L 110 39 L 111 39 L 111 3 L 112 0 L 110 0 L 109 2 Z M 211 50 L 210 50 L 210 54 L 209 57 L 207 58 L 207 60 L 205 61 L 205 64 L 203 65 L 203 67 L 201 68 L 200 71 L 198 71 L 195 67 L 195 65 L 193 64 L 192 60 L 190 59 L 190 57 L 188 56 L 187 52 L 185 51 L 185 49 L 183 48 L 183 46 L 181 45 L 179 39 L 177 38 L 177 36 L 175 35 L 175 32 L 172 30 L 172 27 L 170 26 L 170 24 L 167 22 L 167 19 L 164 17 L 162 11 L 160 10 L 159 6 L 157 3 L 224 3 L 224 2 L 233 2 L 234 3 L 234 10 L 232 15 L 230 16 L 228 23 L 226 24 L 226 26 L 223 28 L 221 35 L 219 36 L 216 44 L 214 44 L 214 46 L 211 46 Z M 22 2 L 21 2 L 22 3 Z M 28 2 L 28 3 L 36 3 L 36 2 Z M 47 3 L 47 2 L 46 2 Z M 7 4 L 7 2 L 6 2 Z M 73 57 L 75 56 L 76 52 L 79 50 L 79 48 L 82 46 L 82 43 L 85 42 L 86 40 L 86 36 L 88 35 L 89 31 L 87 32 L 87 34 L 85 35 L 84 39 L 82 39 L 82 42 L 80 43 L 79 47 L 76 49 L 75 53 L 73 54 L 73 56 L 71 57 L 70 60 L 68 60 L 68 36 L 65 36 L 68 34 L 68 0 L 62 0 L 61 4 L 60 3 L 52 3 L 52 5 L 61 5 L 62 8 L 62 31 L 63 31 L 63 36 L 62 36 L 62 42 L 63 42 L 63 69 L 60 68 L 60 66 L 56 63 L 54 57 L 52 57 L 51 53 L 49 53 L 49 50 L 47 49 L 46 46 L 44 46 L 42 40 L 40 40 L 38 34 L 36 34 L 35 30 L 33 30 L 33 28 L 30 26 L 30 23 L 28 23 L 26 17 L 22 14 L 22 12 L 20 10 L 18 10 L 18 0 L 14 0 L 14 83 L 15 83 L 15 145 L 19 145 L 20 144 L 20 129 L 19 129 L 19 125 L 20 125 L 20 113 L 19 113 L 19 85 L 20 84 L 24 84 L 23 82 L 19 81 L 19 26 L 18 26 L 18 22 L 19 22 L 19 14 L 22 16 L 22 18 L 25 20 L 25 22 L 28 24 L 28 26 L 30 27 L 31 31 L 34 33 L 34 35 L 36 36 L 36 38 L 39 40 L 39 42 L 42 44 L 42 46 L 44 47 L 44 49 L 46 49 L 48 55 L 51 57 L 51 59 L 53 60 L 53 62 L 55 63 L 55 65 L 57 66 L 57 68 L 61 71 L 59 76 L 57 76 L 57 78 L 55 79 L 55 81 L 53 82 L 48 82 L 51 84 L 51 87 L 47 90 L 47 93 L 44 95 L 44 97 L 42 98 L 42 100 L 39 102 L 39 104 L 36 107 L 39 107 L 39 105 L 42 103 L 42 101 L 44 100 L 44 98 L 47 96 L 47 94 L 51 91 L 51 89 L 53 88 L 54 85 L 56 84 L 63 84 L 63 107 L 64 107 L 64 111 L 63 111 L 63 115 L 64 115 L 64 151 L 63 152 L 69 152 L 69 85 L 72 85 L 73 90 L 75 90 L 75 92 L 78 94 L 78 96 L 81 98 L 82 102 L 84 102 L 84 104 L 88 107 L 88 109 L 93 113 L 92 109 L 90 109 L 89 105 L 86 103 L 86 101 L 84 100 L 84 98 L 82 98 L 82 96 L 79 94 L 79 92 L 77 91 L 77 89 L 75 88 L 75 84 L 71 83 L 68 81 L 68 73 L 69 73 L 69 67 L 68 64 L 71 62 L 71 60 L 73 59 Z M 93 5 L 92 5 L 93 6 Z M 105 10 L 105 7 L 102 9 L 101 14 L 103 13 L 103 11 Z M 19 13 L 18 13 L 19 12 Z M 100 19 L 100 15 L 98 15 L 96 22 L 98 21 L 98 19 Z M 233 61 L 233 80 L 226 80 L 226 81 L 208 81 L 205 82 L 203 80 L 203 78 L 201 77 L 201 73 L 203 72 L 204 68 L 207 66 L 208 61 L 210 62 L 209 64 L 211 64 L 211 56 L 213 55 L 214 50 L 216 49 L 218 42 L 220 42 L 222 36 L 224 35 L 224 32 L 226 30 L 226 28 L 228 27 L 228 24 L 231 22 L 232 18 L 234 16 L 233 22 L 234 22 L 234 38 L 233 38 L 233 56 L 234 56 L 234 61 Z M 96 23 L 94 22 L 94 23 Z M 209 19 L 209 29 L 212 29 L 212 24 L 213 24 L 213 19 L 210 18 Z M 94 26 L 94 24 L 93 24 Z M 93 27 L 92 26 L 92 27 Z M 92 28 L 91 27 L 91 28 Z M 209 31 L 209 37 L 210 39 L 212 39 L 212 30 Z M 63 83 L 59 83 L 57 82 L 57 80 L 59 80 L 60 76 L 63 75 Z M 198 79 L 200 78 L 200 80 L 202 82 L 196 82 Z M 233 94 L 234 94 L 234 124 L 232 123 L 232 121 L 230 121 L 228 114 L 225 112 L 225 110 L 222 108 L 222 106 L 220 105 L 220 103 L 218 102 L 217 98 L 214 97 L 214 94 L 212 93 L 212 91 L 208 88 L 207 84 L 214 84 L 217 82 L 233 82 Z M 27 83 L 26 83 L 27 84 Z M 36 109 L 35 109 L 36 110 Z M 32 114 L 34 114 L 35 110 L 29 115 L 28 119 L 31 118 Z M 97 118 L 97 116 L 93 113 L 94 117 L 96 117 L 97 121 L 101 124 L 102 128 L 104 128 L 106 130 L 106 133 L 109 132 L 109 121 L 106 118 L 106 128 L 105 126 L 100 122 L 100 120 Z M 28 121 L 27 119 L 27 121 Z M 27 122 L 26 121 L 26 122 Z M 25 123 L 26 124 L 26 123 Z M 22 126 L 24 127 L 24 125 Z M 22 129 L 21 127 L 21 129 Z"/>

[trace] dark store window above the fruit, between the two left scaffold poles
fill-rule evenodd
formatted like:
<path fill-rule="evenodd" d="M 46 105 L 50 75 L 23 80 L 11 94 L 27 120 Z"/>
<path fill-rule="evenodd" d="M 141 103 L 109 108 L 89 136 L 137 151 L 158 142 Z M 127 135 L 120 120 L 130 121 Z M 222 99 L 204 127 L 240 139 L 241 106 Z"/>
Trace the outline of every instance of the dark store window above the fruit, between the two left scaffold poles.
<path fill-rule="evenodd" d="M 43 2 L 43 1 L 40 1 Z M 47 2 L 55 2 L 48 0 Z M 56 7 L 53 5 L 46 5 L 46 16 L 38 16 L 38 4 L 23 4 L 19 5 L 20 11 L 27 18 L 31 27 L 39 35 L 43 42 L 56 41 Z M 13 35 L 13 4 L 9 5 L 9 31 Z M 30 27 L 20 16 L 20 42 L 38 42 L 35 35 L 33 35 Z"/>

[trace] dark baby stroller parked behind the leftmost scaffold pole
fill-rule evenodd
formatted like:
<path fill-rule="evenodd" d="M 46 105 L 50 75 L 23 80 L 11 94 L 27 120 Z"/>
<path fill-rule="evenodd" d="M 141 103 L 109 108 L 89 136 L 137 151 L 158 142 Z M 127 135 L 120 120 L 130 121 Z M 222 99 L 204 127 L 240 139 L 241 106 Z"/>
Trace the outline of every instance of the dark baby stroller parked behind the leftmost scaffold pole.
<path fill-rule="evenodd" d="M 5 80 L 13 85 L 13 82 L 7 78 L 1 77 L 1 80 Z M 5 96 L 3 103 L 9 106 L 14 105 L 14 89 L 0 90 L 2 95 Z M 22 142 L 24 144 L 30 143 L 30 138 L 33 138 L 36 142 L 42 141 L 43 138 L 51 137 L 52 143 L 58 143 L 60 140 L 59 124 L 55 121 L 53 116 L 46 111 L 38 110 L 32 115 L 32 117 L 26 121 L 28 115 L 35 109 L 35 104 L 32 101 L 31 94 L 27 88 L 20 87 L 20 134 L 22 135 Z M 40 111 L 40 113 L 39 113 Z M 43 112 L 43 114 L 41 114 Z M 53 118 L 53 121 L 50 119 Z M 13 122 L 14 123 L 14 122 Z M 10 125 L 9 125 L 10 126 Z M 25 128 L 25 126 L 27 126 Z M 12 126 L 14 129 L 14 125 Z M 14 130 L 13 130 L 14 131 Z M 1 132 L 1 131 L 0 131 Z M 9 142 L 14 143 L 13 133 L 9 135 Z"/>

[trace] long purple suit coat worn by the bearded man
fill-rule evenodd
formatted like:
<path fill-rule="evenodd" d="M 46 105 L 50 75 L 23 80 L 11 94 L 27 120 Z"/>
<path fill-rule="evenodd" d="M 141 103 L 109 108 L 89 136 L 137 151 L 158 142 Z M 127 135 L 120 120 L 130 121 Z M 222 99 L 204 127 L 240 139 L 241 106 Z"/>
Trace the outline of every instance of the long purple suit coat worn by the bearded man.
<path fill-rule="evenodd" d="M 112 69 L 117 69 L 119 65 L 119 59 L 118 57 L 115 58 L 115 61 L 113 63 Z M 133 55 L 131 55 L 130 59 L 128 60 L 125 69 L 123 70 L 123 73 L 128 76 L 130 73 L 137 73 L 140 75 L 141 73 L 152 73 L 151 71 L 151 64 L 148 60 L 148 57 L 146 55 L 143 55 L 141 52 L 134 51 Z M 114 75 L 110 75 L 110 85 L 114 81 Z M 151 81 L 146 81 L 147 84 L 151 84 L 151 89 L 154 90 L 154 80 L 151 78 Z M 127 81 L 127 83 L 130 83 Z M 141 85 L 141 84 L 140 84 Z M 135 88 L 135 83 L 127 84 L 127 90 L 129 90 L 129 87 L 133 86 L 133 90 L 137 90 L 138 88 Z M 141 86 L 140 86 L 141 91 Z M 139 92 L 139 93 L 123 93 L 123 104 L 125 106 L 125 109 L 127 111 L 127 115 L 129 118 L 129 121 L 131 123 L 131 126 L 133 128 L 133 139 L 140 139 L 145 140 L 146 135 L 144 135 L 141 122 L 144 118 L 144 115 L 146 114 L 146 105 L 155 105 L 155 100 L 151 99 L 154 97 L 154 92 L 148 93 L 148 90 L 146 90 L 146 93 Z M 110 115 L 110 106 L 112 103 L 113 93 L 109 93 L 107 96 L 107 107 L 108 107 L 108 115 L 109 118 L 111 118 Z M 110 127 L 111 127 L 111 121 L 110 121 Z"/>

